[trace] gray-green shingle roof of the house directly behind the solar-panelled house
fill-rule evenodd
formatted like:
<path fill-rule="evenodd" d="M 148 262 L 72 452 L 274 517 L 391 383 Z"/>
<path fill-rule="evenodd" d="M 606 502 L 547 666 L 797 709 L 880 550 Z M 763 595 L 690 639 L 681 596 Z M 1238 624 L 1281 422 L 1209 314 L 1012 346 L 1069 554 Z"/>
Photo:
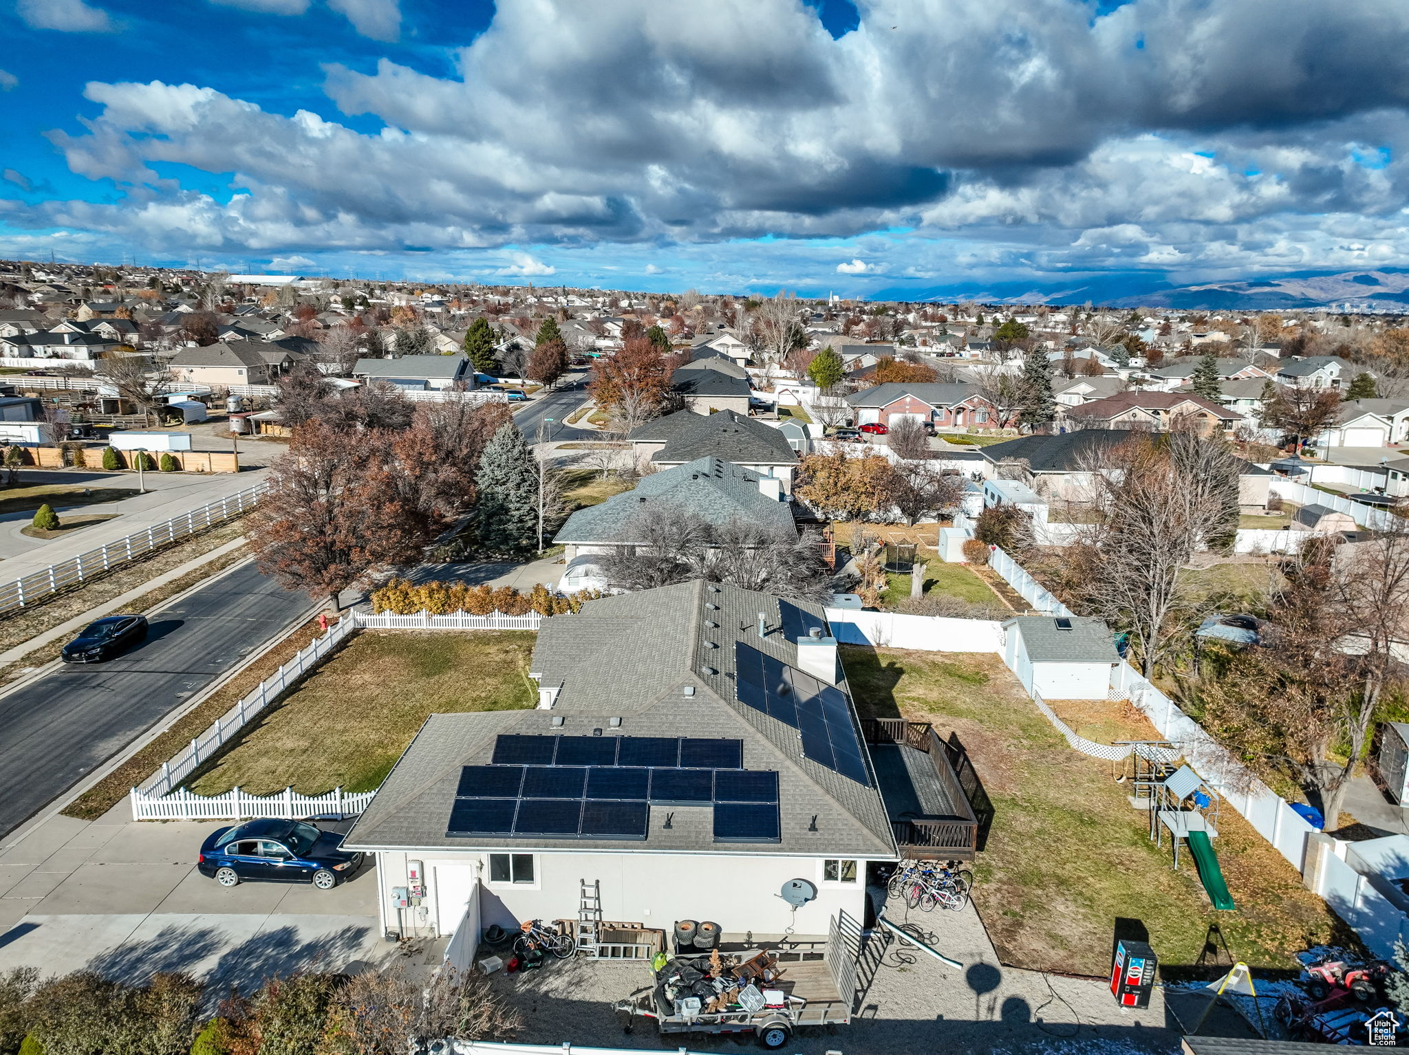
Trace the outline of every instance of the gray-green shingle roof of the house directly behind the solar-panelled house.
<path fill-rule="evenodd" d="M 685 510 L 707 524 L 721 527 L 731 520 L 765 527 L 796 530 L 786 501 L 765 496 L 758 489 L 762 473 L 719 458 L 662 469 L 644 477 L 634 490 L 614 494 L 597 506 L 588 506 L 568 517 L 552 539 L 568 542 L 648 542 L 633 537 L 631 525 L 644 510 L 658 506 Z"/>

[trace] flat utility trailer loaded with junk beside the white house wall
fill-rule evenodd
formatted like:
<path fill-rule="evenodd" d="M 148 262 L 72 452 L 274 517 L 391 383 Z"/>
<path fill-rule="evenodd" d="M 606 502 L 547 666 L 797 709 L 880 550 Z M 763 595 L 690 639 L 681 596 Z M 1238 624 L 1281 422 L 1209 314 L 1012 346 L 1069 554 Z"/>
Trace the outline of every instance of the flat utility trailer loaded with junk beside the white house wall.
<path fill-rule="evenodd" d="M 681 1032 L 754 1034 L 764 1048 L 782 1048 L 802 1027 L 851 1023 L 859 939 L 861 928 L 855 920 L 840 913 L 828 923 L 827 941 L 821 948 L 817 948 L 820 942 L 789 942 L 778 949 L 730 954 L 744 963 L 759 954 L 776 959 L 781 978 L 768 982 L 766 987 L 783 993 L 782 1006 L 750 1011 L 735 1004 L 713 1013 L 700 1009 L 685 1014 L 666 999 L 661 976 L 651 966 L 651 985 L 619 1000 L 614 1010 L 628 1016 L 627 1030 L 635 1018 L 650 1018 L 662 1037 Z"/>

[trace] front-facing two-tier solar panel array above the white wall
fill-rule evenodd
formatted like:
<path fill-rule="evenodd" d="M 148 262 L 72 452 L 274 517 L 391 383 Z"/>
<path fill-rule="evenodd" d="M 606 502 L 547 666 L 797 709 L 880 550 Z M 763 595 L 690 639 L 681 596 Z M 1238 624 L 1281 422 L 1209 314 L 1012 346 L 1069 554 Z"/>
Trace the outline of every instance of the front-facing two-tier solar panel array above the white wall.
<path fill-rule="evenodd" d="M 743 763 L 740 739 L 506 734 L 461 768 L 445 834 L 644 839 L 652 804 L 713 806 L 717 841 L 778 842 L 778 773 Z"/>

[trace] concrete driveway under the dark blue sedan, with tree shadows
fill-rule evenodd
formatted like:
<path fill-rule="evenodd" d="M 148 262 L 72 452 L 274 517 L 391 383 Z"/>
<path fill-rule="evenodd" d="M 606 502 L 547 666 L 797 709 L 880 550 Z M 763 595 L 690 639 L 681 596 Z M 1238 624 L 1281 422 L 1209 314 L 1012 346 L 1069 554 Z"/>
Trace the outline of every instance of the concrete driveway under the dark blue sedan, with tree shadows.
<path fill-rule="evenodd" d="M 333 890 L 227 890 L 196 870 L 220 821 L 128 816 L 124 801 L 93 823 L 54 817 L 0 851 L 0 972 L 144 982 L 185 970 L 224 992 L 297 969 L 356 970 L 395 948 L 382 939 L 371 863 Z"/>

